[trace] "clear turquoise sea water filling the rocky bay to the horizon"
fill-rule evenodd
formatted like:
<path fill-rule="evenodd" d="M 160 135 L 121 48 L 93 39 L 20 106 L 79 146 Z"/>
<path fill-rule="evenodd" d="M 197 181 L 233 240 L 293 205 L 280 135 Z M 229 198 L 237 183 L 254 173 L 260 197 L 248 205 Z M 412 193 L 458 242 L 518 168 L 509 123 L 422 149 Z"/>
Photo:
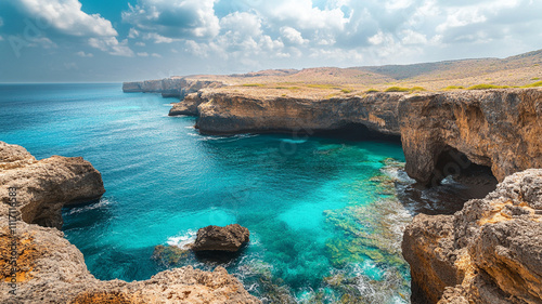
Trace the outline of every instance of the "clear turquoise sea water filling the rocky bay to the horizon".
<path fill-rule="evenodd" d="M 0 141 L 37 158 L 82 156 L 102 173 L 99 202 L 63 211 L 94 276 L 147 279 L 168 267 L 151 259 L 155 246 L 238 223 L 250 230 L 241 255 L 177 266 L 222 265 L 266 303 L 408 302 L 398 250 L 410 215 L 385 161 L 403 161 L 399 145 L 203 136 L 194 118 L 168 117 L 168 102 L 120 84 L 0 85 Z"/>

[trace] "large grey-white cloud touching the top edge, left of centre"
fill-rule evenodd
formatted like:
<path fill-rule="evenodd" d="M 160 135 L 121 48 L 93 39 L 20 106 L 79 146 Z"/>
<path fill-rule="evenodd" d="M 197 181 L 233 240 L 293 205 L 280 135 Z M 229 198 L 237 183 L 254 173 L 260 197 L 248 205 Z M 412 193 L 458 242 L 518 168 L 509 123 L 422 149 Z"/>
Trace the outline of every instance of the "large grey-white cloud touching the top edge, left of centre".
<path fill-rule="evenodd" d="M 205 39 L 220 30 L 214 5 L 218 0 L 138 0 L 122 21 L 164 37 Z"/>

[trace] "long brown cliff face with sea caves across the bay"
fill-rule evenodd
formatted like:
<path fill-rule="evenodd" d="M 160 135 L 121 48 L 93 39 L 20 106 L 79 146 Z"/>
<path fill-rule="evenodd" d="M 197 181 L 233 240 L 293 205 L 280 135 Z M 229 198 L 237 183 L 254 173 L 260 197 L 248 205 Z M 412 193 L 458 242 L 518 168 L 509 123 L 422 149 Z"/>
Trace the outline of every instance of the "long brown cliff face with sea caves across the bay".
<path fill-rule="evenodd" d="M 170 115 L 197 115 L 206 134 L 319 133 L 358 130 L 400 135 L 406 172 L 438 183 L 470 162 L 490 167 L 499 181 L 542 168 L 542 90 L 509 89 L 426 94 L 376 93 L 312 100 L 257 97 L 202 90 Z"/>

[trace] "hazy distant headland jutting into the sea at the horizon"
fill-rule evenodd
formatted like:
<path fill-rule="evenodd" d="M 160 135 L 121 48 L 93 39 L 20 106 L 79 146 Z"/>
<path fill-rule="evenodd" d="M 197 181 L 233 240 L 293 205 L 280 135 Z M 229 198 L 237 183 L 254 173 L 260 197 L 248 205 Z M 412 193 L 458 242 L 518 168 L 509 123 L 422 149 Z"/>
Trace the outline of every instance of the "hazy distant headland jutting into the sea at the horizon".
<path fill-rule="evenodd" d="M 195 80 L 183 77 L 170 77 L 159 80 L 145 80 L 138 82 L 124 82 L 125 93 L 162 93 L 164 97 L 184 97 L 186 94 L 197 92 L 204 88 L 220 88 L 225 85 L 221 81 Z"/>

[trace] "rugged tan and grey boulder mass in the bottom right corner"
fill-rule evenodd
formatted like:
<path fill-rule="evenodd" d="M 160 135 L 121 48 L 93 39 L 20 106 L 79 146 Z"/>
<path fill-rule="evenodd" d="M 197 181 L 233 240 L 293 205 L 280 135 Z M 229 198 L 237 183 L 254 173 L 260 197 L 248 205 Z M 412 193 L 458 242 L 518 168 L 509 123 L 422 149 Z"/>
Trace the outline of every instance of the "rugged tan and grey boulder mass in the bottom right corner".
<path fill-rule="evenodd" d="M 454 215 L 403 236 L 413 303 L 542 303 L 542 170 L 507 176 Z"/>

